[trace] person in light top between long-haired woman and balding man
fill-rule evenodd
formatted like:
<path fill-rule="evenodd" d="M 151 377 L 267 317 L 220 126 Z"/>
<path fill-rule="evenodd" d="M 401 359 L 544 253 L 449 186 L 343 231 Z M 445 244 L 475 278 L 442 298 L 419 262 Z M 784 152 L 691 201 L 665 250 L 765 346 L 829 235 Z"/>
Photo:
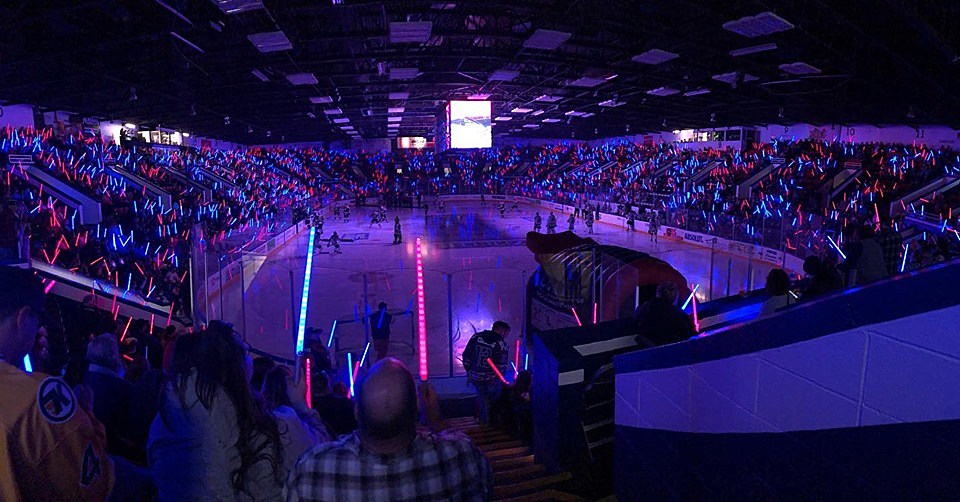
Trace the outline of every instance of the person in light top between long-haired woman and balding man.
<path fill-rule="evenodd" d="M 303 452 L 318 443 L 330 441 L 330 433 L 320 414 L 307 406 L 305 379 L 299 383 L 286 366 L 276 366 L 263 379 L 261 395 L 277 419 L 283 445 L 283 466 L 287 472 L 297 464 Z"/>

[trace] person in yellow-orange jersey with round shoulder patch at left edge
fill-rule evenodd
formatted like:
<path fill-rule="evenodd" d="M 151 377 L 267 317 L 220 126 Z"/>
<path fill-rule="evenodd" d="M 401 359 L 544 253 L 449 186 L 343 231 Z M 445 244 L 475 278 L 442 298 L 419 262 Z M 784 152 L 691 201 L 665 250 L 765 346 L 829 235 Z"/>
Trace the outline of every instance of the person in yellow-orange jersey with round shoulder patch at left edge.
<path fill-rule="evenodd" d="M 89 389 L 78 395 L 20 369 L 36 342 L 43 284 L 12 267 L 0 267 L 0 284 L 0 500 L 105 500 L 114 466 Z"/>

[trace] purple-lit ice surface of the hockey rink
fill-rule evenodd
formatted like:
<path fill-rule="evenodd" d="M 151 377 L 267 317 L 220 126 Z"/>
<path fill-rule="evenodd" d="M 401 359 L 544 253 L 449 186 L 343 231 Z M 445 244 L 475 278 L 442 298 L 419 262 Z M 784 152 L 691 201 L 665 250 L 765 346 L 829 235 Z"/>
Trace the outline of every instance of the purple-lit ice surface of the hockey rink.
<path fill-rule="evenodd" d="M 507 340 L 511 347 L 522 335 L 524 284 L 537 268 L 524 245 L 525 235 L 533 230 L 535 211 L 541 211 L 544 224 L 548 212 L 520 204 L 516 212 L 508 206 L 506 217 L 501 218 L 492 202 L 484 207 L 479 202 L 449 202 L 441 213 L 433 200 L 429 202 L 426 217 L 422 209 L 388 210 L 382 227 L 371 226 L 372 207 L 351 208 L 350 221 L 326 217 L 323 233 L 316 238 L 306 325 L 322 328 L 326 341 L 337 321 L 331 350 L 335 350 L 339 365 L 344 364 L 347 352 L 354 357 L 363 352 L 367 337 L 360 321 L 382 301 L 393 315 L 389 355 L 415 367 L 414 241 L 418 236 L 423 246 L 431 376 L 462 374 L 458 355 L 470 335 L 498 319 L 513 327 Z M 395 216 L 400 217 L 403 231 L 399 245 L 392 244 Z M 557 230 L 566 230 L 566 216 L 557 216 Z M 334 254 L 327 245 L 334 231 L 343 239 L 342 254 Z M 708 301 L 711 290 L 712 297 L 719 298 L 728 291 L 736 294 L 746 289 L 751 275 L 755 287 L 762 287 L 772 267 L 717 252 L 711 274 L 711 251 L 677 239 L 661 235 L 654 244 L 645 232 L 629 232 L 603 221 L 597 222 L 589 235 L 578 220 L 574 232 L 600 244 L 635 249 L 667 261 L 688 282 L 701 285 L 700 301 Z M 210 301 L 209 318 L 232 322 L 257 349 L 291 358 L 308 234 L 301 232 L 266 257 L 246 257 L 263 263 L 254 277 L 245 278 L 245 291 L 237 278 L 225 281 L 223 294 Z M 374 360 L 372 351 L 367 365 Z"/>

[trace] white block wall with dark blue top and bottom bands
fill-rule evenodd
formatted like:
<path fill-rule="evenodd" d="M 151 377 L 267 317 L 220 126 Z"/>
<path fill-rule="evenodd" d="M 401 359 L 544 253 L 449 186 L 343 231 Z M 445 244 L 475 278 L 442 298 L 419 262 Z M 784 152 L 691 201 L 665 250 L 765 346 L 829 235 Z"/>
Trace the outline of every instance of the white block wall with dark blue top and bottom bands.
<path fill-rule="evenodd" d="M 617 356 L 617 494 L 960 493 L 956 284 L 948 264 Z"/>

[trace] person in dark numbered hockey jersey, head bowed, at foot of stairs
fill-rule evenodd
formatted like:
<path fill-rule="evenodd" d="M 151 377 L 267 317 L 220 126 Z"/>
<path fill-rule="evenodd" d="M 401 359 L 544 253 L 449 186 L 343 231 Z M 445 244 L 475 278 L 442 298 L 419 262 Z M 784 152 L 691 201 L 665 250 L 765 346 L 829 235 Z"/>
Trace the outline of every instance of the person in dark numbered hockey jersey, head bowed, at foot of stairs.
<path fill-rule="evenodd" d="M 500 377 L 487 359 L 493 362 L 501 375 L 507 372 L 509 353 L 503 337 L 509 334 L 510 325 L 497 321 L 490 330 L 473 335 L 463 349 L 463 369 L 467 370 L 467 380 L 477 389 L 480 423 L 490 421 L 490 404 L 499 399 L 503 391 Z"/>

